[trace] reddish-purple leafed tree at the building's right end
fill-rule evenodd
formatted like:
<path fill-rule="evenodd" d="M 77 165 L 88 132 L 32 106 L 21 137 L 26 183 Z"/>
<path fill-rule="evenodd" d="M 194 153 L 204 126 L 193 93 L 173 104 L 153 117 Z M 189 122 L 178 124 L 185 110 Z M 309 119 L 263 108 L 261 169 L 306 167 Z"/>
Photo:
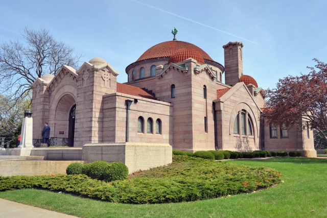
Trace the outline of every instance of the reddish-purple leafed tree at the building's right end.
<path fill-rule="evenodd" d="M 268 89 L 264 119 L 267 124 L 291 128 L 301 125 L 315 129 L 327 140 L 327 64 L 317 64 L 308 75 L 279 79 L 276 88 Z"/>

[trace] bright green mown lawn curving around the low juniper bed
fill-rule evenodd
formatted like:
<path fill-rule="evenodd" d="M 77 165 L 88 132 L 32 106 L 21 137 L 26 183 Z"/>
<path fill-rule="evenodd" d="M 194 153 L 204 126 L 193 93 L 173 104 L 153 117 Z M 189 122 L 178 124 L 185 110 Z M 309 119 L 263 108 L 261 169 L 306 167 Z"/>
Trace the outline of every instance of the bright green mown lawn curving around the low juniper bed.
<path fill-rule="evenodd" d="M 326 217 L 327 159 L 231 162 L 275 168 L 284 183 L 250 194 L 175 204 L 108 203 L 36 189 L 0 192 L 0 198 L 80 217 Z"/>

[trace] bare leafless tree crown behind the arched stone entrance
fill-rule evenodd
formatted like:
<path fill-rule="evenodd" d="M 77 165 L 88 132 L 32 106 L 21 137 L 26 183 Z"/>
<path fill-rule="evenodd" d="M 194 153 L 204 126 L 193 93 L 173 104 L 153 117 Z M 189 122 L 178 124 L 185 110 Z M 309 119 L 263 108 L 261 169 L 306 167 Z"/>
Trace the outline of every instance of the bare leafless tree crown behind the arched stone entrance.
<path fill-rule="evenodd" d="M 36 78 L 56 75 L 62 65 L 78 68 L 81 56 L 73 55 L 74 49 L 55 40 L 49 30 L 25 28 L 22 36 L 25 43 L 16 39 L 0 44 L 0 86 L 13 99 L 24 98 Z"/>

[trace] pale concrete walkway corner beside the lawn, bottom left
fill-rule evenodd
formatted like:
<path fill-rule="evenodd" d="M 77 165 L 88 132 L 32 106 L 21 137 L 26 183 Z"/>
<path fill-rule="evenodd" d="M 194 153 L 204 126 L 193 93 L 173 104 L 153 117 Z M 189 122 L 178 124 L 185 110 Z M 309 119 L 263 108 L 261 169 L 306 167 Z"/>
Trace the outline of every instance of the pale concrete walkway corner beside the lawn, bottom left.
<path fill-rule="evenodd" d="M 25 204 L 20 204 L 0 198 L 0 217 L 1 218 L 76 218 L 51 210 L 45 210 Z"/>

